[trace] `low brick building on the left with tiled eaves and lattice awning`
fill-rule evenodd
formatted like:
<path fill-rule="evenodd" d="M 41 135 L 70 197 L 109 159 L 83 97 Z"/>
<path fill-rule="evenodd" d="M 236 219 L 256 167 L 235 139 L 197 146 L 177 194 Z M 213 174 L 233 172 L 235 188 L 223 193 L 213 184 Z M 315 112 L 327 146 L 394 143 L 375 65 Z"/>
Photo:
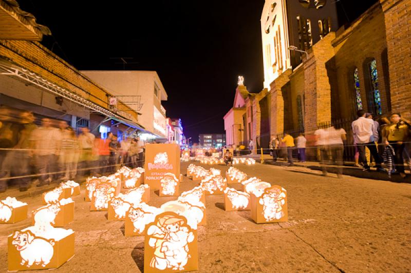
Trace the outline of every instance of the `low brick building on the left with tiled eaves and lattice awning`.
<path fill-rule="evenodd" d="M 144 131 L 138 113 L 119 102 L 110 107 L 110 92 L 42 46 L 45 26 L 15 2 L 0 0 L 0 106 L 29 110 L 40 119 L 65 120 L 73 128 L 101 126 L 118 134 Z"/>

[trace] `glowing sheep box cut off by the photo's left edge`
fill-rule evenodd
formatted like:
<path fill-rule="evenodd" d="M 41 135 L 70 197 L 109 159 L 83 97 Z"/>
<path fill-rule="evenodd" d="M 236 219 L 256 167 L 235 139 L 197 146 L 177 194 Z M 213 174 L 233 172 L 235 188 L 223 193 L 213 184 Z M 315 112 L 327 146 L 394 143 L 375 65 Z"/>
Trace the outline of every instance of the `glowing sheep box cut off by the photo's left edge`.
<path fill-rule="evenodd" d="M 0 201 L 0 224 L 13 224 L 27 219 L 27 203 L 7 197 Z"/>

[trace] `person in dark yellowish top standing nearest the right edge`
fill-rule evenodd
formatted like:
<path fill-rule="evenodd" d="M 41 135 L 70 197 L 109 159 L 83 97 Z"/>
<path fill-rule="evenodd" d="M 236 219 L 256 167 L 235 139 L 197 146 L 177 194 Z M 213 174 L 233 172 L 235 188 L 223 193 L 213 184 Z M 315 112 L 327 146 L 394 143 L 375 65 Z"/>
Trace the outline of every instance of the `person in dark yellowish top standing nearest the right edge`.
<path fill-rule="evenodd" d="M 402 178 L 405 178 L 405 169 L 404 169 L 404 160 L 403 160 L 403 151 L 405 144 L 409 138 L 411 124 L 401 120 L 400 113 L 393 113 L 390 117 L 391 124 L 388 125 L 386 130 L 386 145 L 391 145 L 394 148 L 394 163 L 395 168 Z"/>

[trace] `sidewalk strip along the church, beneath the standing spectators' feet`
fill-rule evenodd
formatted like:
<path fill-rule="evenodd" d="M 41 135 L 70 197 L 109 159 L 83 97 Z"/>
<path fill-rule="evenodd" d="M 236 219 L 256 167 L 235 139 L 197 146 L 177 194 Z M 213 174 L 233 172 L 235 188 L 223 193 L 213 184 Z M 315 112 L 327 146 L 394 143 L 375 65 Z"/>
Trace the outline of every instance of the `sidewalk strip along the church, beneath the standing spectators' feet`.
<path fill-rule="evenodd" d="M 241 157 L 253 158 L 256 160 L 257 163 L 260 163 L 260 160 L 261 160 L 260 154 L 248 154 L 248 155 L 243 155 Z M 263 159 L 264 159 L 264 164 L 287 167 L 287 161 L 278 160 L 274 162 L 271 155 L 269 154 L 263 154 Z M 306 161 L 302 163 L 302 162 L 297 162 L 294 159 L 294 166 L 295 167 L 305 167 L 305 168 L 309 168 L 312 170 L 321 170 L 320 163 L 316 161 Z M 330 173 L 337 173 L 337 168 L 332 167 L 332 166 L 327 167 L 327 171 Z M 398 174 L 391 175 L 391 178 L 389 178 L 387 173 L 377 172 L 376 168 L 371 168 L 371 171 L 364 172 L 362 171 L 362 168 L 355 167 L 354 162 L 344 162 L 344 166 L 343 166 L 343 174 L 350 175 L 352 177 L 384 180 L 384 181 L 391 181 L 391 182 L 398 182 L 398 183 L 411 183 L 410 171 L 406 170 L 405 173 L 407 174 L 407 177 L 405 179 L 401 178 L 400 175 Z"/>

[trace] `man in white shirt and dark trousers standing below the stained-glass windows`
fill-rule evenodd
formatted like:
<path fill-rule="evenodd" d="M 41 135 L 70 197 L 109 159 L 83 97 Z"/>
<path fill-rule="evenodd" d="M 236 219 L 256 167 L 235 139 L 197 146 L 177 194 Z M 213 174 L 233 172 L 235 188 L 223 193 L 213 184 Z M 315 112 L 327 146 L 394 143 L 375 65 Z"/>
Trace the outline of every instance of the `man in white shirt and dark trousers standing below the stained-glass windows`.
<path fill-rule="evenodd" d="M 374 121 L 365 118 L 366 112 L 364 110 L 358 110 L 358 119 L 353 121 L 352 133 L 354 135 L 354 142 L 357 143 L 357 148 L 360 153 L 360 162 L 363 163 L 363 171 L 369 171 L 367 158 L 365 155 L 365 147 L 369 149 L 372 157 L 376 160 L 377 171 L 385 171 L 381 168 L 382 160 L 377 151 L 377 146 L 374 142 Z"/>

